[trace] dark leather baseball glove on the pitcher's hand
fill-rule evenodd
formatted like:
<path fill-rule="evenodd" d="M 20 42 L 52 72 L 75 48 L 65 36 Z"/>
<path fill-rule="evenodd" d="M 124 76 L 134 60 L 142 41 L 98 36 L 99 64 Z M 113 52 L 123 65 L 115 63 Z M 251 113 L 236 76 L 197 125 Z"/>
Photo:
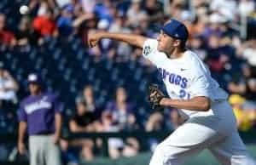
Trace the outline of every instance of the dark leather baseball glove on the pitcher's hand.
<path fill-rule="evenodd" d="M 152 109 L 160 111 L 163 107 L 160 105 L 165 95 L 160 91 L 156 84 L 150 84 L 148 87 L 148 101 L 152 105 Z"/>

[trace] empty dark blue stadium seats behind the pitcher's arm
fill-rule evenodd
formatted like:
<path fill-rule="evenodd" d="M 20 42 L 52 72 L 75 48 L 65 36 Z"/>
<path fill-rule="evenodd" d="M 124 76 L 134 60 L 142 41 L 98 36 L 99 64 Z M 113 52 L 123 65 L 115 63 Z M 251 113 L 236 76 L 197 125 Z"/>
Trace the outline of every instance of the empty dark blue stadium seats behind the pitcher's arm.
<path fill-rule="evenodd" d="M 115 88 L 124 86 L 132 96 L 131 101 L 140 103 L 138 116 L 149 113 L 145 91 L 148 83 L 154 82 L 152 73 L 155 77 L 155 70 L 148 71 L 133 60 L 122 63 L 106 59 L 94 61 L 76 37 L 66 40 L 45 37 L 44 44 L 26 48 L 24 52 L 20 48 L 6 49 L 3 62 L 20 83 L 20 99 L 27 94 L 27 75 L 36 71 L 43 77 L 46 89 L 59 94 L 67 110 L 73 109 L 74 98 L 81 93 L 84 84 L 91 83 L 98 104 L 112 100 Z"/>

